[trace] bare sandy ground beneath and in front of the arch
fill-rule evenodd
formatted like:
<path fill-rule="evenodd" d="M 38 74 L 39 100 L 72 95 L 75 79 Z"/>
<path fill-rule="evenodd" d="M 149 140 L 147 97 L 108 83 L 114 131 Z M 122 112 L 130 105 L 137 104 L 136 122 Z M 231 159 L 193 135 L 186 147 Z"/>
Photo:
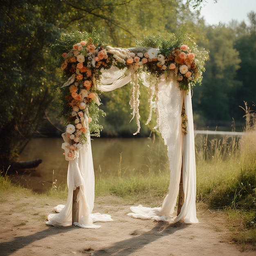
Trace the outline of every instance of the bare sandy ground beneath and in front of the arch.
<path fill-rule="evenodd" d="M 97 222 L 100 229 L 47 226 L 46 217 L 57 204 L 65 202 L 36 196 L 7 198 L 0 205 L 0 255 L 256 255 L 249 249 L 241 252 L 241 246 L 231 242 L 221 211 L 198 206 L 199 223 L 170 225 L 131 218 L 130 205 L 106 196 L 96 198 L 93 212 L 108 213 L 114 221 Z"/>

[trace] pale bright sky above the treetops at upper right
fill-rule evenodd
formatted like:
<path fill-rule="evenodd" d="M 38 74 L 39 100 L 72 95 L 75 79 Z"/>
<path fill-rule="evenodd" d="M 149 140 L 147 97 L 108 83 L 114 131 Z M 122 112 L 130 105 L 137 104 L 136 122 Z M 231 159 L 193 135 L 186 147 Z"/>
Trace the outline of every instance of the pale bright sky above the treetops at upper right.
<path fill-rule="evenodd" d="M 245 21 L 249 25 L 247 14 L 256 13 L 256 0 L 207 0 L 202 4 L 201 16 L 208 25 L 218 25 L 219 22 L 228 24 L 231 20 Z"/>

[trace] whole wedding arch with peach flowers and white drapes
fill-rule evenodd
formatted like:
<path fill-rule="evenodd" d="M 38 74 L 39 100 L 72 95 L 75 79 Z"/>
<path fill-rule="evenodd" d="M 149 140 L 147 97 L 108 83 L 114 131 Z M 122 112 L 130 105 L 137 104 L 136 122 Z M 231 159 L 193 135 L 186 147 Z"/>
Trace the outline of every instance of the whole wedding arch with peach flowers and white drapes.
<path fill-rule="evenodd" d="M 175 223 L 196 223 L 195 146 L 191 89 L 202 81 L 208 54 L 198 49 L 189 35 L 144 36 L 137 47 L 124 49 L 101 42 L 92 34 L 74 31 L 62 34 L 52 45 L 63 70 L 65 83 L 59 87 L 62 114 L 67 120 L 62 134 L 67 170 L 68 195 L 64 205 L 54 208 L 48 225 L 99 228 L 97 221 L 111 221 L 107 214 L 92 213 L 94 207 L 94 167 L 90 136 L 99 136 L 102 110 L 99 95 L 130 83 L 132 119 L 139 122 L 139 85 L 148 87 L 150 111 L 156 112 L 156 127 L 167 145 L 170 162 L 169 192 L 162 207 L 130 207 L 129 216 Z M 182 177 L 181 177 L 182 173 Z M 184 203 L 173 216 L 179 184 Z"/>

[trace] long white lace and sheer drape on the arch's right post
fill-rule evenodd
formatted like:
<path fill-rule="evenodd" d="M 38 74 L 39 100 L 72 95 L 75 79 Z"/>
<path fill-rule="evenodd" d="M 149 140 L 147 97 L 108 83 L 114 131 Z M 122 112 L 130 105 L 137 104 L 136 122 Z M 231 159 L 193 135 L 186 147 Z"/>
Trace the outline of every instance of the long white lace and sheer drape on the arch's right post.
<path fill-rule="evenodd" d="M 168 88 L 168 90 L 165 90 Z M 181 110 L 184 100 L 186 114 L 188 116 L 187 135 L 182 135 L 181 130 Z M 185 223 L 197 223 L 195 196 L 196 196 L 196 169 L 195 169 L 195 145 L 191 92 L 181 92 L 177 83 L 170 82 L 166 87 L 161 81 L 159 83 L 159 104 L 158 111 L 161 115 L 159 119 L 159 130 L 168 149 L 168 159 L 170 162 L 170 183 L 169 192 L 162 203 L 162 207 L 130 207 L 132 213 L 128 213 L 133 218 L 162 220 L 175 223 L 183 221 Z M 183 161 L 182 161 L 183 155 Z M 182 166 L 183 165 L 183 166 Z M 177 203 L 179 193 L 181 166 L 183 167 L 183 190 L 184 204 L 178 216 L 172 216 Z"/>

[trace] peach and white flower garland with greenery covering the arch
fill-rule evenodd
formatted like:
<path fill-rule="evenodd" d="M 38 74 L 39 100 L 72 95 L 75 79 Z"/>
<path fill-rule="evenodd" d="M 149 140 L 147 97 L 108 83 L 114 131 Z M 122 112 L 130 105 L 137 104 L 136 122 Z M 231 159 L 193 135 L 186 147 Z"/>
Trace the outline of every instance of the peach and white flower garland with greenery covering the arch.
<path fill-rule="evenodd" d="M 183 43 L 188 41 L 188 43 Z M 188 35 L 144 37 L 137 47 L 114 48 L 102 43 L 94 30 L 92 34 L 74 31 L 63 34 L 52 45 L 64 73 L 65 82 L 60 87 L 62 93 L 62 115 L 67 120 L 65 137 L 69 142 L 63 144 L 67 160 L 77 157 L 77 152 L 90 135 L 98 136 L 102 126 L 98 124 L 101 93 L 97 88 L 101 71 L 111 66 L 126 68 L 133 77 L 130 105 L 132 115 L 137 119 L 139 132 L 139 82 L 137 75 L 147 72 L 155 79 L 163 74 L 169 80 L 176 80 L 181 90 L 189 90 L 202 81 L 204 61 L 208 54 L 199 51 Z M 156 81 L 156 80 L 155 80 Z M 157 83 L 155 83 L 157 86 Z M 152 88 L 151 88 L 152 89 Z M 157 88 L 151 90 L 157 93 Z M 156 97 L 157 99 L 157 97 Z M 153 93 L 150 93 L 152 109 Z M 132 118 L 133 118 L 132 117 Z M 148 120 L 150 121 L 150 120 Z M 147 122 L 148 123 L 148 122 Z M 182 111 L 182 130 L 186 133 L 186 113 Z M 136 133 L 137 133 L 136 132 Z M 135 133 L 135 134 L 136 134 Z"/>

